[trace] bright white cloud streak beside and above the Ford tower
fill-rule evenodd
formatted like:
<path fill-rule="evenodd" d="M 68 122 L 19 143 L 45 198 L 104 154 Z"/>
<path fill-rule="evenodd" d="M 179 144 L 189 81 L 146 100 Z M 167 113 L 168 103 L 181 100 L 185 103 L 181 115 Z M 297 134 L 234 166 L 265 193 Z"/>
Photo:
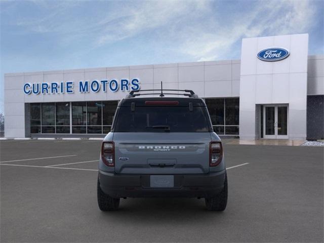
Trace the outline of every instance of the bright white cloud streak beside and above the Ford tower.
<path fill-rule="evenodd" d="M 197 24 L 193 34 L 188 35 L 184 30 L 181 35 L 187 41 L 180 47 L 181 52 L 197 61 L 215 60 L 231 52 L 241 38 L 301 33 L 315 21 L 315 9 L 308 1 L 260 1 L 257 4 L 249 12 L 232 14 L 232 22 L 216 22 L 211 17 L 208 29 Z"/>

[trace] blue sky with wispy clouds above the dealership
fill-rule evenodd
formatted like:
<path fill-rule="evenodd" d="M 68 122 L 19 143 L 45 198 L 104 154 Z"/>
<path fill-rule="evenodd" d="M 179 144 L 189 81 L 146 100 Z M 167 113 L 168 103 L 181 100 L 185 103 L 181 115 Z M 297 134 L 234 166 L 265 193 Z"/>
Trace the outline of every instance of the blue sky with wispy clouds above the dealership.
<path fill-rule="evenodd" d="M 4 73 L 239 59 L 241 38 L 309 33 L 323 54 L 318 1 L 1 1 Z"/>

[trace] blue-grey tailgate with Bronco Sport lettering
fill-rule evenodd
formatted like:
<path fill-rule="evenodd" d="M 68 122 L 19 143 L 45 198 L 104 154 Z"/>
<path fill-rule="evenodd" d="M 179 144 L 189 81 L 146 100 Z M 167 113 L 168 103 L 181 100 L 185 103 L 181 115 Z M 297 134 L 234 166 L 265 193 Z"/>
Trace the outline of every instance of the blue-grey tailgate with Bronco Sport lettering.
<path fill-rule="evenodd" d="M 117 174 L 209 173 L 210 133 L 114 133 Z"/>

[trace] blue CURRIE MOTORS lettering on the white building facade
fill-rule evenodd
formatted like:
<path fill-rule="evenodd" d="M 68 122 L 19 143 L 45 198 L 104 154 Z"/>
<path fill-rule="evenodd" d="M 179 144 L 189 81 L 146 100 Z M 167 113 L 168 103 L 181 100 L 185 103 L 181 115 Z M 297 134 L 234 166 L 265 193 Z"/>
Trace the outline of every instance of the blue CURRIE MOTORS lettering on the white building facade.
<path fill-rule="evenodd" d="M 75 87 L 76 86 L 76 87 Z M 23 86 L 23 92 L 25 95 L 38 95 L 38 94 L 72 94 L 74 90 L 78 93 L 97 93 L 97 92 L 116 92 L 139 90 L 140 82 L 138 78 L 128 79 L 111 79 L 111 80 L 93 80 L 93 81 L 79 81 L 74 83 L 68 82 L 51 82 L 51 83 L 25 83 Z"/>

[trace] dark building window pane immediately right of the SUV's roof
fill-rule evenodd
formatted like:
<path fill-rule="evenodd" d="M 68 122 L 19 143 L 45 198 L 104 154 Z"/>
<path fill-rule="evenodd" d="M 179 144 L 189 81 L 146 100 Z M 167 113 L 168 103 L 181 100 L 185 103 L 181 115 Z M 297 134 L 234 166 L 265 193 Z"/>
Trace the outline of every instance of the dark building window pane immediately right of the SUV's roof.
<path fill-rule="evenodd" d="M 206 99 L 213 125 L 224 125 L 224 99 Z"/>

